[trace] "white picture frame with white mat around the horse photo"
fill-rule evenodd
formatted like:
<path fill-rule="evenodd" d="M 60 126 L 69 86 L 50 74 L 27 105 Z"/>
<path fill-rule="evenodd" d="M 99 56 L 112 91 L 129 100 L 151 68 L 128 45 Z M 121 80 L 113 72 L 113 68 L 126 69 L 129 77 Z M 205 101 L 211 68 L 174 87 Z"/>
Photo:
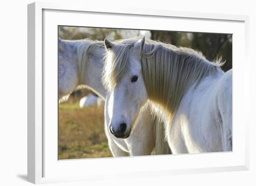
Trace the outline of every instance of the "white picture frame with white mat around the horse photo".
<path fill-rule="evenodd" d="M 102 21 L 103 15 L 108 19 L 111 18 L 111 21 Z M 90 19 L 84 21 L 83 18 Z M 92 19 L 94 21 L 90 21 Z M 155 19 L 157 19 L 155 27 L 143 25 L 144 21 L 154 22 Z M 161 23 L 162 21 L 173 23 L 171 30 L 175 31 L 233 34 L 233 85 L 235 85 L 233 87 L 233 152 L 59 161 L 56 154 L 58 139 L 56 135 L 58 103 L 56 46 L 58 36 L 55 32 L 58 25 L 154 29 L 159 24 L 159 30 L 170 30 L 171 24 L 165 25 Z M 186 24 L 179 23 L 182 21 Z M 202 24 L 204 27 L 201 26 Z M 36 2 L 29 4 L 28 181 L 37 184 L 121 179 L 124 178 L 124 173 L 129 178 L 135 178 L 249 170 L 249 121 L 244 119 L 249 118 L 245 117 L 249 113 L 248 46 L 249 17 L 243 15 L 118 7 L 105 9 L 101 6 L 89 7 L 72 3 Z M 49 63 L 52 61 L 53 63 Z M 243 64 L 238 61 L 243 61 Z M 236 78 L 238 76 L 240 78 Z M 47 96 L 49 94 L 55 96 Z M 56 105 L 49 107 L 48 105 L 52 103 Z M 136 170 L 130 166 L 132 164 L 138 165 Z M 119 167 L 120 165 L 126 169 Z"/>

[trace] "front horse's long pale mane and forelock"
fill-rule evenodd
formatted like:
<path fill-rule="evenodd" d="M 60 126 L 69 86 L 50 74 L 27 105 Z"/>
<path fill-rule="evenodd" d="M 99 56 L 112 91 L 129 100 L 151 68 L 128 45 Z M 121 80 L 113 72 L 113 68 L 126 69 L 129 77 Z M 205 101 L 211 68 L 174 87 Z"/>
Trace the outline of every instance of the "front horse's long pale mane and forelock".
<path fill-rule="evenodd" d="M 137 41 L 138 38 L 119 41 L 106 53 L 103 83 L 108 90 L 113 90 L 130 68 L 129 52 Z M 210 62 L 202 52 L 150 39 L 145 40 L 141 54 L 148 98 L 168 110 L 170 121 L 186 91 L 205 77 L 223 73 L 222 64 L 221 58 Z"/>

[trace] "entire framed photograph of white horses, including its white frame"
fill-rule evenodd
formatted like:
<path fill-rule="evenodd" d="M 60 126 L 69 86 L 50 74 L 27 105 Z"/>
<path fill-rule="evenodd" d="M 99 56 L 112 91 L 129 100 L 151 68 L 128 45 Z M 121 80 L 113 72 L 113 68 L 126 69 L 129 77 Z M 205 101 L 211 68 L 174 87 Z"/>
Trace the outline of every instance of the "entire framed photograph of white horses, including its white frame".
<path fill-rule="evenodd" d="M 37 184 L 249 170 L 249 121 L 245 119 L 249 118 L 246 117 L 249 113 L 248 27 L 249 17 L 242 15 L 29 4 L 28 181 Z M 155 54 L 157 49 L 165 57 Z M 145 52 L 140 53 L 142 51 Z M 173 51 L 185 57 L 173 57 Z M 209 82 L 206 71 L 211 73 L 211 78 L 214 77 L 211 81 L 219 77 L 219 73 L 231 73 L 231 80 L 227 77 L 224 81 L 229 81 L 229 89 L 225 86 L 220 89 L 225 90 L 221 91 L 222 94 L 230 90 L 231 96 L 222 99 L 221 104 L 218 103 L 218 108 L 229 108 L 229 124 L 225 125 L 226 119 L 222 116 L 226 110 L 220 113 L 209 112 L 210 116 L 222 116 L 221 124 L 225 123 L 225 127 L 216 133 L 216 136 L 223 135 L 221 140 L 215 138 L 215 128 L 211 127 L 210 130 L 204 128 L 209 135 L 201 139 L 203 142 L 200 143 L 197 141 L 199 138 L 193 138 L 192 129 L 187 130 L 183 124 L 183 137 L 180 140 L 184 141 L 183 146 L 186 147 L 182 148 L 177 145 L 182 144 L 181 141 L 177 142 L 179 137 L 172 137 L 177 133 L 173 133 L 164 124 L 167 123 L 164 118 L 168 116 L 159 115 L 157 119 L 157 114 L 156 117 L 151 114 L 152 108 L 158 111 L 167 106 L 175 108 L 175 105 L 165 105 L 164 101 L 156 100 L 154 94 L 149 93 L 150 83 L 154 83 L 145 83 L 145 79 L 150 77 L 145 77 L 145 71 L 151 68 L 145 68 L 145 65 L 155 64 L 149 60 L 152 52 L 155 52 L 153 55 L 160 65 L 154 66 L 155 71 L 167 68 L 167 62 L 161 66 L 161 58 L 172 61 L 170 65 L 177 63 L 171 69 L 176 66 L 183 68 L 179 79 L 176 78 L 181 81 L 177 83 L 180 86 L 176 89 L 178 92 L 183 91 L 182 95 L 189 94 L 188 90 L 181 88 L 189 86 L 183 82 L 205 77 Z M 141 57 L 143 78 L 140 73 L 136 73 L 136 67 L 131 67 L 137 54 L 145 56 Z M 123 57 L 126 55 L 132 55 L 128 59 L 135 61 L 127 62 L 130 64 L 125 72 L 123 68 L 118 71 L 116 66 L 126 63 L 127 58 Z M 143 64 L 143 60 L 146 64 Z M 189 60 L 193 60 L 196 65 L 191 65 Z M 192 69 L 193 73 L 188 70 L 190 68 L 195 68 Z M 133 70 L 129 72 L 130 69 Z M 124 75 L 114 76 L 115 71 Z M 171 72 L 161 74 L 167 74 L 163 80 L 175 79 L 169 76 Z M 125 81 L 126 77 L 128 81 Z M 139 84 L 141 79 L 144 79 L 144 83 Z M 121 85 L 128 87 L 124 82 L 133 83 L 132 86 L 139 86 L 140 89 L 134 89 L 136 92 L 133 92 L 133 89 L 116 88 Z M 162 84 L 163 90 L 160 85 L 157 85 L 157 89 L 164 91 L 167 85 Z M 143 94 L 144 87 L 147 94 Z M 207 94 L 213 94 L 216 89 Z M 172 95 L 168 100 L 173 97 L 175 100 L 180 99 L 175 91 L 168 94 Z M 118 98 L 115 99 L 116 95 Z M 122 95 L 129 97 L 126 98 L 127 104 L 122 101 Z M 146 104 L 144 97 L 153 101 Z M 192 100 L 200 105 L 196 99 L 202 102 L 202 106 L 199 106 L 201 111 L 208 109 L 204 109 L 203 104 L 208 103 L 207 98 L 202 101 L 203 96 L 193 97 Z M 132 104 L 133 100 L 136 106 L 153 106 L 150 109 L 141 109 L 142 106 L 137 108 Z M 214 103 L 209 105 L 212 107 Z M 193 106 L 193 117 L 199 112 L 196 112 L 196 108 Z M 179 113 L 178 109 L 175 113 L 176 123 L 192 120 L 192 116 Z M 177 120 L 179 114 L 183 118 L 180 121 Z M 193 123 L 200 125 L 197 118 L 205 118 L 205 115 L 199 114 Z M 164 132 L 157 126 L 163 126 Z M 175 124 L 171 128 L 175 128 Z M 162 134 L 161 144 L 167 147 L 165 150 L 161 145 L 158 146 L 159 134 Z"/>

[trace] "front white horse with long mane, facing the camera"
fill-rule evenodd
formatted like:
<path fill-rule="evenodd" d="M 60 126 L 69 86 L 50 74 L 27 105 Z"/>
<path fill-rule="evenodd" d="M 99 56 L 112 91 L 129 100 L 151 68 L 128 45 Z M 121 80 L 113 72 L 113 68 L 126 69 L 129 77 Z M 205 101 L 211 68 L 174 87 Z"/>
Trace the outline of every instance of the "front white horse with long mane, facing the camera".
<path fill-rule="evenodd" d="M 103 79 L 110 91 L 110 128 L 130 133 L 150 100 L 165 121 L 173 154 L 232 150 L 232 70 L 192 49 L 141 40 L 108 49 Z M 125 127 L 124 127 L 125 126 Z"/>

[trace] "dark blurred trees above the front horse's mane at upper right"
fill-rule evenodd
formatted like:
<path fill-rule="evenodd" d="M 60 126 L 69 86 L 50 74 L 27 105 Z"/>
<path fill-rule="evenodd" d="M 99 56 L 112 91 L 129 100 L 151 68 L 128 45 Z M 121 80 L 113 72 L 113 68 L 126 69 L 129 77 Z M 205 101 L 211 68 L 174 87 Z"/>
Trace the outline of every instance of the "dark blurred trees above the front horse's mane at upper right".
<path fill-rule="evenodd" d="M 176 46 L 201 51 L 210 61 L 222 58 L 223 71 L 232 68 L 232 34 L 151 31 L 151 38 Z"/>

